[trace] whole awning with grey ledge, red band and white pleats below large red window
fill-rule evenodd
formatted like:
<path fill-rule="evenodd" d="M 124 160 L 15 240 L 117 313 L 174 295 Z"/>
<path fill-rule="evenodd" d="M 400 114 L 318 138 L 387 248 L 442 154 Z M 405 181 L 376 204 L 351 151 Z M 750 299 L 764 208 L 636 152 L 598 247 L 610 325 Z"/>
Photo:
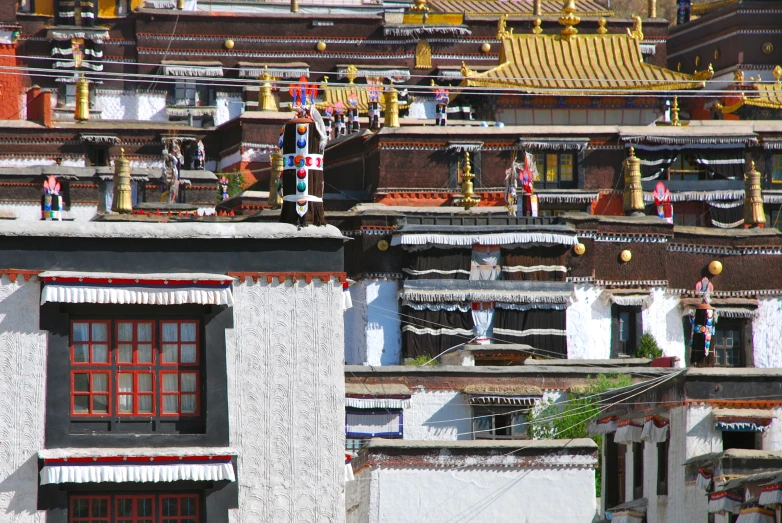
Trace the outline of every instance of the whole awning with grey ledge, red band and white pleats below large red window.
<path fill-rule="evenodd" d="M 41 451 L 41 485 L 61 483 L 158 483 L 171 481 L 236 481 L 229 449 L 78 449 Z M 68 449 L 64 449 L 68 450 Z M 90 451 L 94 452 L 90 452 Z M 92 454 L 92 455 L 90 455 Z"/>

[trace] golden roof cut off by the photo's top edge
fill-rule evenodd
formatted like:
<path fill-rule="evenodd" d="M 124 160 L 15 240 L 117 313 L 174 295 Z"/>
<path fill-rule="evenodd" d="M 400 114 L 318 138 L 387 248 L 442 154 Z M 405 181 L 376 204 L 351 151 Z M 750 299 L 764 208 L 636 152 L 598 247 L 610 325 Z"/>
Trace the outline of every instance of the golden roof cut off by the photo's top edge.
<path fill-rule="evenodd" d="M 434 12 L 464 13 L 467 15 L 525 15 L 532 16 L 533 0 L 509 0 L 505 2 L 488 0 L 429 0 L 427 5 Z M 613 16 L 614 12 L 595 0 L 577 0 L 576 13 L 581 16 Z M 541 2 L 543 16 L 558 15 L 562 2 L 558 0 L 543 0 Z"/>

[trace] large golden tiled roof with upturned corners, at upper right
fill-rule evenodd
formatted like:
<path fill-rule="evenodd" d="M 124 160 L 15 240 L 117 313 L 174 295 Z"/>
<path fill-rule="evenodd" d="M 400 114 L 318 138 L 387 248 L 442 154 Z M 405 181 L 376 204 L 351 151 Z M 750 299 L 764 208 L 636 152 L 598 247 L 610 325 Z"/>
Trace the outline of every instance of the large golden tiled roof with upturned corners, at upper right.
<path fill-rule="evenodd" d="M 620 34 L 509 35 L 499 65 L 485 73 L 462 67 L 467 87 L 570 95 L 698 89 L 711 72 L 678 73 L 644 63 L 637 38 Z"/>

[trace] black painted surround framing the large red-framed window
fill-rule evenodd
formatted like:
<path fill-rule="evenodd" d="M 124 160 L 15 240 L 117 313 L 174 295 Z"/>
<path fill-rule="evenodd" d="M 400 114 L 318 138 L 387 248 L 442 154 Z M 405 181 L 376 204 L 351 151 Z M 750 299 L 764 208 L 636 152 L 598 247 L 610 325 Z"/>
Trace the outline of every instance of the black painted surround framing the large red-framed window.
<path fill-rule="evenodd" d="M 159 424 L 166 416 L 126 417 L 74 425 L 71 415 L 71 321 L 73 319 L 192 319 L 201 321 L 201 416 Z M 46 303 L 41 307 L 41 329 L 48 331 L 46 377 L 46 446 L 136 447 L 228 446 L 228 394 L 225 329 L 233 326 L 232 309 L 225 306 L 72 305 Z M 112 384 L 113 385 L 113 384 Z M 81 419 L 86 419 L 81 417 Z M 91 418 L 90 418 L 91 419 Z"/>

